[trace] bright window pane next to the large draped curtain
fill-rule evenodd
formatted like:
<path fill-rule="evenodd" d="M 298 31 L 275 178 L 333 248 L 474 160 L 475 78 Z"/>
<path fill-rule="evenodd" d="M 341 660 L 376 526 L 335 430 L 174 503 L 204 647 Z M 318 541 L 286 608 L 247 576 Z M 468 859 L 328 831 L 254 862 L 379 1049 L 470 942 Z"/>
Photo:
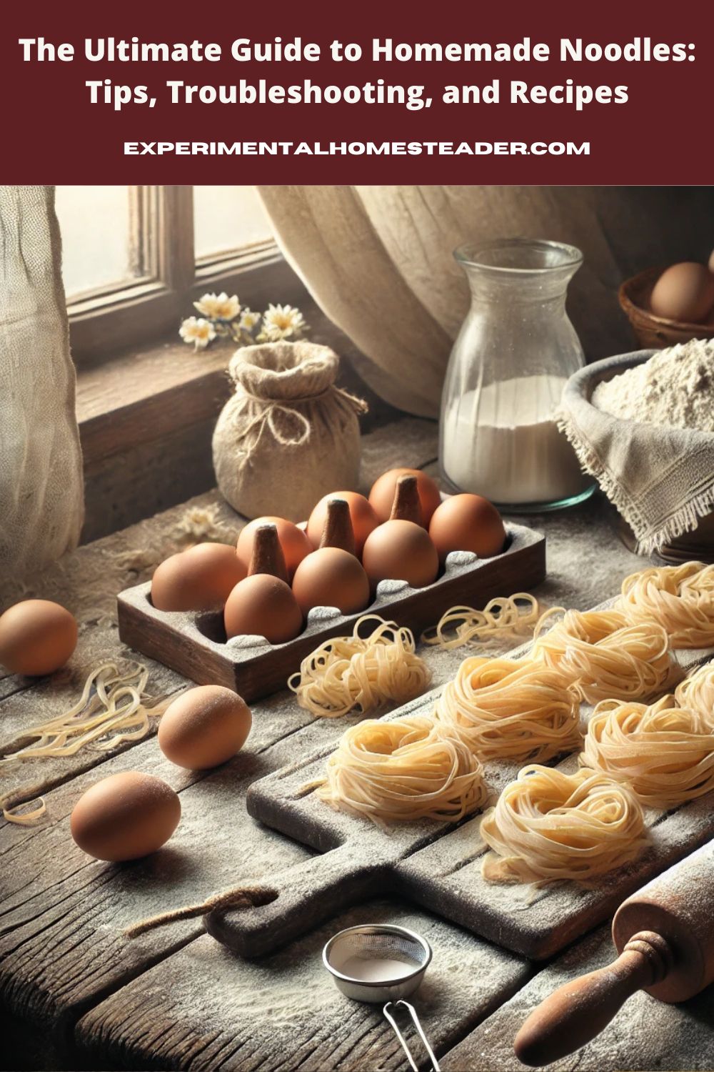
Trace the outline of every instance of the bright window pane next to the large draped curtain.
<path fill-rule="evenodd" d="M 197 259 L 270 237 L 268 217 L 253 187 L 194 187 Z"/>

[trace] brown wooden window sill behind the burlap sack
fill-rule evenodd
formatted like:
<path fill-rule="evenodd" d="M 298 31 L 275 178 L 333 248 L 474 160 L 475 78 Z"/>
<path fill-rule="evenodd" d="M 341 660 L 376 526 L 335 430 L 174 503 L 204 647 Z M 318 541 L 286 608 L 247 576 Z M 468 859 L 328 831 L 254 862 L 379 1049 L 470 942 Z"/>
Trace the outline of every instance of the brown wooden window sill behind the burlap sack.
<path fill-rule="evenodd" d="M 310 325 L 314 342 L 343 360 L 339 385 L 366 398 L 363 431 L 394 419 L 396 411 L 360 378 L 362 355 L 304 292 L 290 296 Z M 106 536 L 215 485 L 211 438 L 230 394 L 226 373 L 233 347 L 198 353 L 178 340 L 80 367 L 77 419 L 85 460 L 82 542 Z"/>

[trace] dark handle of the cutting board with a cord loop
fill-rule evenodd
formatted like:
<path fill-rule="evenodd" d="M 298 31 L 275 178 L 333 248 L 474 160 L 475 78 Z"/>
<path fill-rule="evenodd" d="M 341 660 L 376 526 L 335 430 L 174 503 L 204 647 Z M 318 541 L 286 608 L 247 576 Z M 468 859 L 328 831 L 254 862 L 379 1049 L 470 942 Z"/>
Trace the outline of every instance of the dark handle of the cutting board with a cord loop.
<path fill-rule="evenodd" d="M 269 904 L 214 909 L 203 917 L 203 925 L 241 956 L 262 956 L 358 900 L 384 893 L 388 875 L 385 863 L 360 857 L 353 845 L 340 845 L 267 876 L 265 884 L 277 893 Z"/>

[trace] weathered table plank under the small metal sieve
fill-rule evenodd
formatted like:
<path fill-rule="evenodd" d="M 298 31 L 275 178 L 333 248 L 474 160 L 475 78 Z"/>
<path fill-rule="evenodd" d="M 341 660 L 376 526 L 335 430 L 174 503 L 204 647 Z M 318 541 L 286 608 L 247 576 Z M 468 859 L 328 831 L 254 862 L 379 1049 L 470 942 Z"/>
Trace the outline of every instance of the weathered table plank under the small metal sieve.
<path fill-rule="evenodd" d="M 130 1069 L 402 1070 L 405 1055 L 381 1006 L 344 997 L 320 961 L 332 934 L 378 921 L 416 930 L 434 949 L 410 1000 L 437 1055 L 529 976 L 523 961 L 426 912 L 370 902 L 260 961 L 241 961 L 200 938 L 82 1017 L 76 1031 L 82 1057 Z M 417 1047 L 416 1040 L 422 1056 Z"/>

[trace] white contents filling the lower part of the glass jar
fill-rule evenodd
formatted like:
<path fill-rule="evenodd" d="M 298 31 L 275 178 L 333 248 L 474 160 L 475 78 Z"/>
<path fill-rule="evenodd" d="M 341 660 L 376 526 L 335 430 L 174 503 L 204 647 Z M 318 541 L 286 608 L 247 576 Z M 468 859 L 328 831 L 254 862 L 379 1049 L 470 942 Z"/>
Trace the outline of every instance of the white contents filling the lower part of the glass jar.
<path fill-rule="evenodd" d="M 503 506 L 557 503 L 592 482 L 558 430 L 565 378 L 521 376 L 454 399 L 444 416 L 442 464 L 462 491 Z"/>

